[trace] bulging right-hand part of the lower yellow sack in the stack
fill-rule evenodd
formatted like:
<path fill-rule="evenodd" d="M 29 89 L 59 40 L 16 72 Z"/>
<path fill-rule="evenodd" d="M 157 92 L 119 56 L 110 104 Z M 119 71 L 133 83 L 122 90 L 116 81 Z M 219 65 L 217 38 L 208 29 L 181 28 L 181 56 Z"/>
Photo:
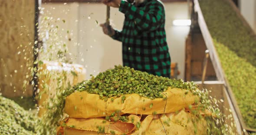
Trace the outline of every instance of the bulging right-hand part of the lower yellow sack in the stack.
<path fill-rule="evenodd" d="M 148 121 L 153 116 L 147 116 Z M 132 135 L 207 135 L 207 122 L 204 118 L 192 122 L 191 113 L 181 110 L 177 115 L 167 113 L 158 118 L 153 118 L 150 124 L 141 122 L 144 130 L 139 129 Z M 159 119 L 160 118 L 160 119 Z M 146 128 L 147 127 L 147 128 Z"/>

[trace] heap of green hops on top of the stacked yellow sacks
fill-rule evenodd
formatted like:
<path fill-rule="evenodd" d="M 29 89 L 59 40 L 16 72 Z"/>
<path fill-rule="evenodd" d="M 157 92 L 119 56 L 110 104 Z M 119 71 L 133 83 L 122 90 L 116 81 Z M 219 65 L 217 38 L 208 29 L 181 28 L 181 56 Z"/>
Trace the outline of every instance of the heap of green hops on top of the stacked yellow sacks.
<path fill-rule="evenodd" d="M 99 94 L 101 99 L 112 96 L 137 93 L 150 98 L 163 98 L 161 92 L 168 87 L 187 90 L 196 89 L 193 83 L 184 83 L 182 80 L 171 80 L 158 77 L 146 72 L 136 71 L 134 68 L 115 66 L 114 69 L 99 73 L 89 81 L 84 81 L 75 87 L 77 91 Z"/>

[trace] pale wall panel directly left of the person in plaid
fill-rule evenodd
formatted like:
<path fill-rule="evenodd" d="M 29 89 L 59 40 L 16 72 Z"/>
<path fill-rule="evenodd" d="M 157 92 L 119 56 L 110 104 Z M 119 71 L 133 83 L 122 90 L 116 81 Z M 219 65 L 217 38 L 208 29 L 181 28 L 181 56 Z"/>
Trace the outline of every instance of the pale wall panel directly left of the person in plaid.
<path fill-rule="evenodd" d="M 92 14 L 93 13 L 93 14 Z M 116 28 L 121 29 L 124 21 L 122 13 L 117 8 L 111 8 L 111 19 Z M 90 15 L 91 14 L 91 15 Z M 88 17 L 91 17 L 89 19 Z M 79 6 L 79 55 L 78 63 L 87 68 L 89 74 L 96 75 L 122 64 L 121 42 L 115 41 L 103 34 L 102 28 L 95 23 L 105 23 L 106 6 L 99 3 L 81 3 Z M 81 61 L 81 59 L 84 61 Z"/>

